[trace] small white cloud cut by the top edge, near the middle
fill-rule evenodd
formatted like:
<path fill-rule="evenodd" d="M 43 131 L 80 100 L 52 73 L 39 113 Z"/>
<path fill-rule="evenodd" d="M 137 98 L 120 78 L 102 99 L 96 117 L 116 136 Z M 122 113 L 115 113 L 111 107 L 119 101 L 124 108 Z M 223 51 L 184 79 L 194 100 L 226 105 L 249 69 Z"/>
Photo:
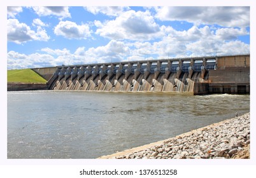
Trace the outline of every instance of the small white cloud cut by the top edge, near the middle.
<path fill-rule="evenodd" d="M 118 16 L 124 11 L 129 10 L 129 7 L 125 6 L 86 6 L 84 8 L 94 15 L 103 13 L 108 16 Z"/>

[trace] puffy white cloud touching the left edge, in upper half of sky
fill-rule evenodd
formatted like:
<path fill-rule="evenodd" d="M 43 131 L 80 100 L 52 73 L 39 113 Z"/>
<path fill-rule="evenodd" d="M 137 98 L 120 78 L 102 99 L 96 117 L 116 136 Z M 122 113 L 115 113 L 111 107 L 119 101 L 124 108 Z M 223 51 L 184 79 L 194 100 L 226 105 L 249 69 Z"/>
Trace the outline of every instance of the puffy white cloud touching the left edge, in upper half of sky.
<path fill-rule="evenodd" d="M 36 32 L 32 31 L 28 25 L 18 22 L 17 19 L 7 20 L 7 37 L 8 41 L 17 44 L 31 40 L 48 41 L 48 39 L 50 39 L 45 29 L 38 27 Z"/>

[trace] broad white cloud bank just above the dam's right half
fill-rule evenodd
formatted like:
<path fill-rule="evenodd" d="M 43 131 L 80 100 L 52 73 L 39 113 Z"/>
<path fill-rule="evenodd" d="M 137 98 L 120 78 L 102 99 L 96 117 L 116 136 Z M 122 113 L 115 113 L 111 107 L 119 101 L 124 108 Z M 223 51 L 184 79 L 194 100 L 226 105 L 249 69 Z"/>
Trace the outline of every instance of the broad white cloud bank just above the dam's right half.
<path fill-rule="evenodd" d="M 133 58 L 157 55 L 159 58 L 187 57 L 204 55 L 230 55 L 250 53 L 250 45 L 236 40 L 239 35 L 245 35 L 244 29 L 224 28 L 211 30 L 193 26 L 187 31 L 176 31 L 171 27 L 160 41 L 136 42 L 131 44 Z"/>

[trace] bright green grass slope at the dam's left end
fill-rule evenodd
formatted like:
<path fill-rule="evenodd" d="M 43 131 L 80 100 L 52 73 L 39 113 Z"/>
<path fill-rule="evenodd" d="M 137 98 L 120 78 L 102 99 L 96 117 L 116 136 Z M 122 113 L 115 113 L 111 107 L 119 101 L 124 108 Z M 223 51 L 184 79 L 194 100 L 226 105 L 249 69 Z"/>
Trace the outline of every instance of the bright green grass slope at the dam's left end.
<path fill-rule="evenodd" d="M 47 81 L 31 69 L 7 71 L 8 83 L 46 83 Z"/>

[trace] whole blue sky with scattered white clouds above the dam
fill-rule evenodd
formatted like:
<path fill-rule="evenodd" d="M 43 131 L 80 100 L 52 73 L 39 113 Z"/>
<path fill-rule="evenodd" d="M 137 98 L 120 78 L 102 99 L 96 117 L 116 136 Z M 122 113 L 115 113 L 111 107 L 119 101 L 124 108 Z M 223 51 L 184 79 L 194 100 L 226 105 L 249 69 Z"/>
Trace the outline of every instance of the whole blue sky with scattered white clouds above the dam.
<path fill-rule="evenodd" d="M 250 53 L 249 6 L 8 6 L 7 68 Z"/>

